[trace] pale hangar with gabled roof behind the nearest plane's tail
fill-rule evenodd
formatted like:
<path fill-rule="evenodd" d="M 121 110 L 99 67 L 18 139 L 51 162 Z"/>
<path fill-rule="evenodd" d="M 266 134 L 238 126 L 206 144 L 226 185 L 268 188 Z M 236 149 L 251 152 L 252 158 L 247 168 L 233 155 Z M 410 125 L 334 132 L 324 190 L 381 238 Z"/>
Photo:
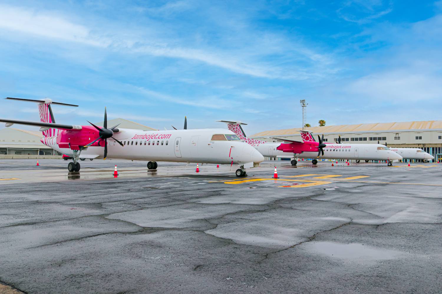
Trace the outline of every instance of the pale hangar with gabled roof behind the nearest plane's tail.
<path fill-rule="evenodd" d="M 108 127 L 118 127 L 134 130 L 156 130 L 127 119 L 111 119 L 107 121 Z M 101 126 L 103 122 L 95 123 Z M 19 125 L 17 125 L 19 126 Z M 38 129 L 37 127 L 35 129 Z M 40 141 L 42 132 L 32 130 L 19 130 L 12 127 L 0 129 L 0 155 L 61 155 L 59 152 L 49 148 Z"/>

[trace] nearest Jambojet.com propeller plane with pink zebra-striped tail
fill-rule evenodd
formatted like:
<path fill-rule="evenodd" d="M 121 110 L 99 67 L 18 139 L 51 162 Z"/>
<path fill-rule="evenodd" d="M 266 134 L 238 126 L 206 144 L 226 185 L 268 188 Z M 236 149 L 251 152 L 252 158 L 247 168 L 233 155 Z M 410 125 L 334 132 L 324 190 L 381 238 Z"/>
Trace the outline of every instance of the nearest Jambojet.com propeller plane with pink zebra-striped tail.
<path fill-rule="evenodd" d="M 0 119 L 6 127 L 13 124 L 40 127 L 42 143 L 60 153 L 72 156 L 68 170 L 80 171 L 80 158 L 113 158 L 146 160 L 149 169 L 156 169 L 156 161 L 238 164 L 236 176 L 247 176 L 246 168 L 254 167 L 264 157 L 252 146 L 225 129 L 145 131 L 107 127 L 104 109 L 103 126 L 75 126 L 55 123 L 51 104 L 77 107 L 53 102 L 50 99 L 30 100 L 6 98 L 38 104 L 41 122 Z"/>

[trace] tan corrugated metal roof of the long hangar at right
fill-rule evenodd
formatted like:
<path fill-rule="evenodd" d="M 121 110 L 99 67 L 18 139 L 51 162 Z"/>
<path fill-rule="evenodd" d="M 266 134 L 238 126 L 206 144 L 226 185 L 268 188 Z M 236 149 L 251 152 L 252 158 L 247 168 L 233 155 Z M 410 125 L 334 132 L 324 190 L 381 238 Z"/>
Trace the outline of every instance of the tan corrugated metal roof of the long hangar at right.
<path fill-rule="evenodd" d="M 432 130 L 442 129 L 442 120 L 427 120 L 417 122 L 396 122 L 396 123 L 362 123 L 354 125 L 339 125 L 339 126 L 324 126 L 324 127 L 309 127 L 310 130 L 316 134 L 322 133 L 344 133 L 344 132 L 376 132 L 389 130 Z M 284 130 L 267 130 L 251 135 L 251 137 L 268 137 L 268 136 L 282 136 L 299 134 L 301 128 L 284 129 Z"/>

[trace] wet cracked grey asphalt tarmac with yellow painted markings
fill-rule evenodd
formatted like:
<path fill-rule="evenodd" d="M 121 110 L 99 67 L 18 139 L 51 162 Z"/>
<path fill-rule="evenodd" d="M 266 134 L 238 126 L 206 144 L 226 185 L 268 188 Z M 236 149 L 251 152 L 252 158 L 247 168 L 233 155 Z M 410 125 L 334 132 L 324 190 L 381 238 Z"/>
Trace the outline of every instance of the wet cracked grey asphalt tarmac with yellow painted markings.
<path fill-rule="evenodd" d="M 24 293 L 441 293 L 442 164 L 34 164 L 0 161 L 0 282 Z"/>

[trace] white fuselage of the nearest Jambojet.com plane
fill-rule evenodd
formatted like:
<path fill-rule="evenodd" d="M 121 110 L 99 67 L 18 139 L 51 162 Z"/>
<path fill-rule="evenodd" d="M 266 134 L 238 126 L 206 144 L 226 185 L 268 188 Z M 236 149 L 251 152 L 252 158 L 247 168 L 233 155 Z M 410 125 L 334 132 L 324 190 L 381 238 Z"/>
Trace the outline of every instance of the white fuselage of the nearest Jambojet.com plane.
<path fill-rule="evenodd" d="M 64 133 L 63 133 L 64 132 Z M 234 134 L 225 129 L 143 131 L 119 129 L 114 139 L 107 139 L 107 158 L 147 161 L 173 161 L 213 164 L 245 164 L 261 162 L 263 157 L 243 141 L 212 140 L 215 134 Z M 92 140 L 94 138 L 91 138 Z M 61 131 L 53 137 L 42 138 L 42 143 L 66 155 L 72 155 L 69 148 L 69 134 Z M 63 141 L 63 142 L 62 142 Z M 81 151 L 80 158 L 103 158 L 104 141 Z M 62 146 L 62 147 L 61 147 Z"/>

